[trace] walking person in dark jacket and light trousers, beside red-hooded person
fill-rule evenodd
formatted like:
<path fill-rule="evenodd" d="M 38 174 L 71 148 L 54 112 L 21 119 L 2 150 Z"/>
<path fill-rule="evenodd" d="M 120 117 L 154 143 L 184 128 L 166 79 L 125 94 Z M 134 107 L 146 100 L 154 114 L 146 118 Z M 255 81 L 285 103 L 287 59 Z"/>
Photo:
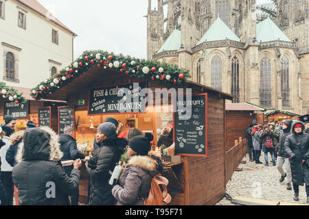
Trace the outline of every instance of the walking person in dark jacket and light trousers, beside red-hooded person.
<path fill-rule="evenodd" d="M 290 172 L 290 161 L 288 160 L 288 153 L 284 149 L 284 142 L 286 137 L 290 135 L 290 128 L 292 127 L 293 121 L 290 119 L 282 121 L 282 130 L 280 131 L 279 135 L 279 143 L 277 144 L 277 170 L 279 171 L 281 177 L 279 182 L 282 183 L 284 179 L 287 177 L 286 181 L 286 189 L 292 190 L 291 182 L 292 182 L 292 175 Z M 283 165 L 286 164 L 286 172 L 282 168 Z"/>

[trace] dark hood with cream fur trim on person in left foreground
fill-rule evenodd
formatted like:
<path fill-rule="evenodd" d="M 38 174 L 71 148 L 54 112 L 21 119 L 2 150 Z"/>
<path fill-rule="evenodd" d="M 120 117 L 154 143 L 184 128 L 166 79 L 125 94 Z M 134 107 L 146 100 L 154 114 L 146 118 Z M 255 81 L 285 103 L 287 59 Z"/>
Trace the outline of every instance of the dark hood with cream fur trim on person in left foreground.
<path fill-rule="evenodd" d="M 63 153 L 60 151 L 58 135 L 49 127 L 26 129 L 23 142 L 19 144 L 16 162 L 23 160 L 49 160 L 58 162 Z"/>

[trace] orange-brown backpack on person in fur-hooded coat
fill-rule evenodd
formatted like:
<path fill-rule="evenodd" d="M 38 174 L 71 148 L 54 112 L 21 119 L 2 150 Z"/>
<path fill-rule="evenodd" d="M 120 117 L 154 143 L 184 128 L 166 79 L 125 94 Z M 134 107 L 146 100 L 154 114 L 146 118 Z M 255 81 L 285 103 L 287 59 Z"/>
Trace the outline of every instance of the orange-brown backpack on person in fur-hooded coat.
<path fill-rule="evenodd" d="M 148 198 L 143 198 L 144 205 L 167 205 L 172 201 L 172 197 L 168 194 L 168 179 L 160 174 L 151 179 L 151 186 Z"/>

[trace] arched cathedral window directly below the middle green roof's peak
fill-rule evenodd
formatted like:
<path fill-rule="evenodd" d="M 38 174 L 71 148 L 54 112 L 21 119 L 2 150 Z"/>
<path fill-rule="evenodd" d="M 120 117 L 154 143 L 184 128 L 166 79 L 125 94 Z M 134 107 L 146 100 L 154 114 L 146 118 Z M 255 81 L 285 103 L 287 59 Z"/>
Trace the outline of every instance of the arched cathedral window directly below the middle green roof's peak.
<path fill-rule="evenodd" d="M 211 88 L 222 90 L 222 60 L 219 55 L 211 59 Z"/>

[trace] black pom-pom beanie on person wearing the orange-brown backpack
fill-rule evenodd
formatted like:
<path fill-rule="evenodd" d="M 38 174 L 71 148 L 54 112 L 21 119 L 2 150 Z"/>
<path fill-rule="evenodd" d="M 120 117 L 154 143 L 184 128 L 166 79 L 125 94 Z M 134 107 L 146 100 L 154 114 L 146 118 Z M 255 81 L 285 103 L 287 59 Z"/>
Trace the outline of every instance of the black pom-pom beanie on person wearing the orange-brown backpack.
<path fill-rule="evenodd" d="M 137 153 L 137 155 L 148 155 L 151 149 L 150 142 L 153 140 L 152 133 L 146 133 L 145 136 L 135 136 L 130 140 L 130 148 Z"/>

